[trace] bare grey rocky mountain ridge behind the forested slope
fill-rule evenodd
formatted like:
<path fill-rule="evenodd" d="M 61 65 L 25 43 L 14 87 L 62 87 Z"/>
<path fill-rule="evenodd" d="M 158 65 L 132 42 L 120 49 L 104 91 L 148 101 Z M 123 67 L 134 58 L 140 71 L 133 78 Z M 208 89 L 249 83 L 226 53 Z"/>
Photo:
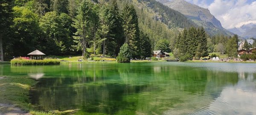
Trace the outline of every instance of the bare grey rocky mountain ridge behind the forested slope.
<path fill-rule="evenodd" d="M 189 17 L 198 26 L 203 26 L 208 34 L 233 35 L 233 33 L 224 29 L 221 22 L 216 19 L 208 9 L 201 8 L 197 5 L 186 2 L 185 0 L 157 0 L 164 5 L 179 11 L 186 17 Z"/>

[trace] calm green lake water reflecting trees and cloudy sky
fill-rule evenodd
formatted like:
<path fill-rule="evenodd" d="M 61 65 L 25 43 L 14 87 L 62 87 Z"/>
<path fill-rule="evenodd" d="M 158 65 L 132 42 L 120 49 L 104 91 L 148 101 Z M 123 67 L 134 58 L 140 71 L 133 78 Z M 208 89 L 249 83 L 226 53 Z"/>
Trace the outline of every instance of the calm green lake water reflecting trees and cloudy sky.
<path fill-rule="evenodd" d="M 256 64 L 0 65 L 38 81 L 31 103 L 80 115 L 256 115 Z"/>

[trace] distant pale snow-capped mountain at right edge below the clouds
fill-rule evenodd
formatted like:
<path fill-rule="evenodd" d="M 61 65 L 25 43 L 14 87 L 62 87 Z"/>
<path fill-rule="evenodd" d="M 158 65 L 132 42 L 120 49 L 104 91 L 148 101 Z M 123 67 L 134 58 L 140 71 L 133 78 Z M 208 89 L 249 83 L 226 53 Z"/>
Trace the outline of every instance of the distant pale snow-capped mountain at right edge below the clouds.
<path fill-rule="evenodd" d="M 256 38 L 256 21 L 249 21 L 249 23 L 228 30 L 243 38 Z"/>

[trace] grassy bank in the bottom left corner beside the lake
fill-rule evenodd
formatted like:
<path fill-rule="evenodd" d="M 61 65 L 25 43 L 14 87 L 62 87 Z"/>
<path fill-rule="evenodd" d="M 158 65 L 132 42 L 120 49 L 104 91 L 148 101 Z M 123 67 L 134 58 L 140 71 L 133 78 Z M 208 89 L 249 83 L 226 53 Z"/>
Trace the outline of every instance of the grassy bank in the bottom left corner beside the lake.
<path fill-rule="evenodd" d="M 35 80 L 28 77 L 0 77 L 0 103 L 8 105 L 0 107 L 0 115 L 13 112 L 13 109 L 20 109 L 20 112 L 31 115 L 55 115 L 38 112 L 29 102 L 29 89 L 34 85 Z"/>

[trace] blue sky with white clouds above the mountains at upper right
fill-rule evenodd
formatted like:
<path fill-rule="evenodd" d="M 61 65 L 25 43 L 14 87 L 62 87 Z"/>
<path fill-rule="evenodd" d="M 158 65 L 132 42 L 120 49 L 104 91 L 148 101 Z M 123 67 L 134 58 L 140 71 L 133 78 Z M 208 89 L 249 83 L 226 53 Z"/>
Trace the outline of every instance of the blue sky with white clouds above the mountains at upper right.
<path fill-rule="evenodd" d="M 256 0 L 186 0 L 209 9 L 226 29 L 256 23 Z"/>

